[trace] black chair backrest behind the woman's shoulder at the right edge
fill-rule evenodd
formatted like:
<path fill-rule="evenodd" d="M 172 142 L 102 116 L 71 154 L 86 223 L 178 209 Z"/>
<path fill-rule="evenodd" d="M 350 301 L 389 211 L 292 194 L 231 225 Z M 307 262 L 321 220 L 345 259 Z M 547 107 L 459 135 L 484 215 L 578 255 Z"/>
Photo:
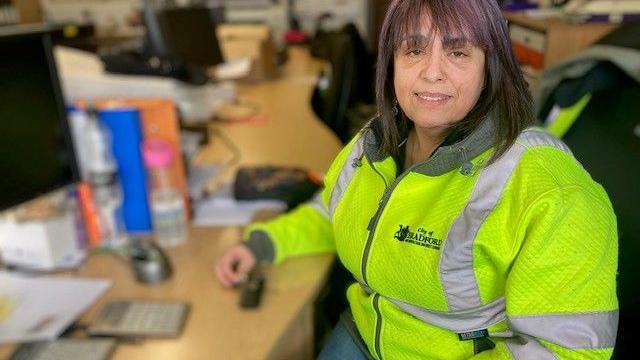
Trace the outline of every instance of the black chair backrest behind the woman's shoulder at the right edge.
<path fill-rule="evenodd" d="M 639 127 L 640 84 L 626 82 L 594 94 L 564 137 L 576 158 L 606 189 L 618 220 L 619 358 L 631 355 L 631 350 L 635 353 L 633 334 L 640 328 Z"/>

